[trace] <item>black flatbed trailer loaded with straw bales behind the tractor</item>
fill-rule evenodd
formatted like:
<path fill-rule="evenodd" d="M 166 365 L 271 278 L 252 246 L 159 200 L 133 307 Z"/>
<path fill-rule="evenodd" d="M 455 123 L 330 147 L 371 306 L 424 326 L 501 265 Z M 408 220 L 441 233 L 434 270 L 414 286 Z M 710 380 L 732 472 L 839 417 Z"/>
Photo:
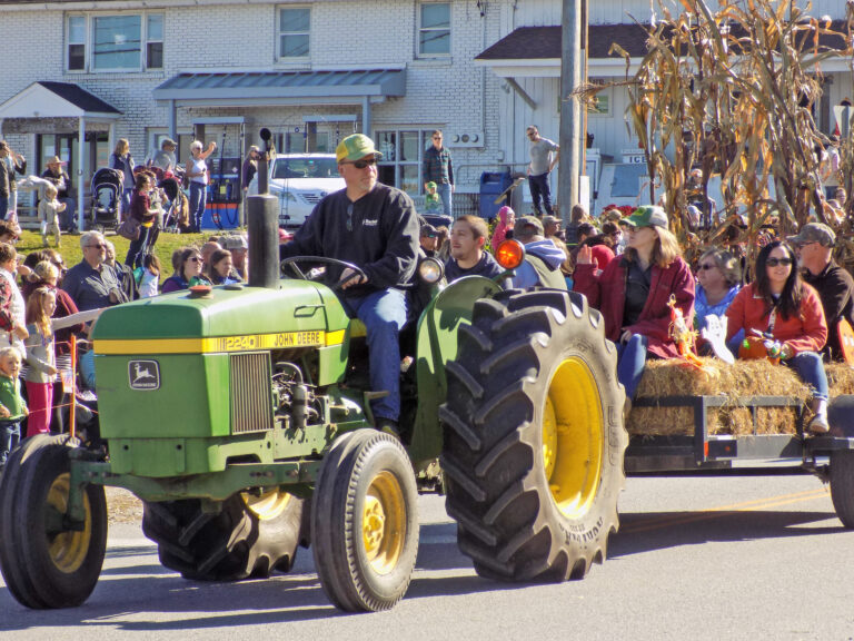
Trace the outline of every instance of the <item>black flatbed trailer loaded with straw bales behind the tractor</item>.
<path fill-rule="evenodd" d="M 767 361 L 704 369 L 654 362 L 626 422 L 629 474 L 749 469 L 768 462 L 830 483 L 840 520 L 854 527 L 854 369 L 827 366 L 828 434 L 806 432 L 810 391 Z"/>

